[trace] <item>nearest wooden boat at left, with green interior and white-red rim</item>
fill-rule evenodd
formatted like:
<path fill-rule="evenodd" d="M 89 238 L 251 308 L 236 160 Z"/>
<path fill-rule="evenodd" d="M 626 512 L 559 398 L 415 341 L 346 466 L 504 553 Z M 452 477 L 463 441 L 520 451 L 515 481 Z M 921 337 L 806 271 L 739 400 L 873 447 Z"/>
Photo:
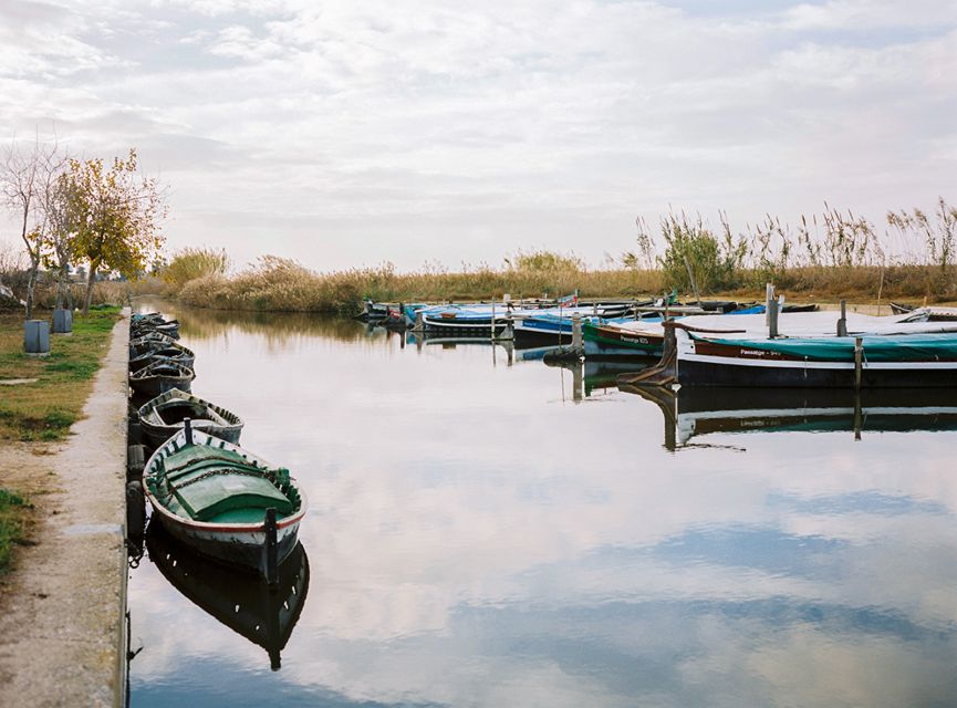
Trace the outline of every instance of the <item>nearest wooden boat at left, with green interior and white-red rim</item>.
<path fill-rule="evenodd" d="M 186 425 L 150 456 L 146 498 L 176 539 L 204 555 L 269 576 L 292 552 L 305 516 L 289 470 Z M 267 523 L 274 514 L 274 545 Z"/>

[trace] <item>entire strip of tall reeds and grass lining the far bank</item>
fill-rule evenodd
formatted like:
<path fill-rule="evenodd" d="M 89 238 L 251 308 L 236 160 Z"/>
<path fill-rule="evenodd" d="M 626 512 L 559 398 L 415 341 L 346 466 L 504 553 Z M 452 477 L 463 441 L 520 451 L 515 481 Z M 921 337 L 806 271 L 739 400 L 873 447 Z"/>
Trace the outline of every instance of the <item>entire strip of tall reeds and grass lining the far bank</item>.
<path fill-rule="evenodd" d="M 397 273 L 392 264 L 316 273 L 295 261 L 267 256 L 233 275 L 225 268 L 175 287 L 185 303 L 219 310 L 350 314 L 362 300 L 464 301 L 579 291 L 583 298 L 642 298 L 694 282 L 701 295 L 763 295 L 766 282 L 803 299 L 856 301 L 957 299 L 957 208 L 938 199 L 935 210 L 888 211 L 878 227 L 824 205 L 797 226 L 768 215 L 734 231 L 724 214 L 712 227 L 700 215 L 669 214 L 658 233 L 638 220 L 636 249 L 620 266 L 593 270 L 574 254 L 518 252 L 501 268 L 427 264 Z"/>

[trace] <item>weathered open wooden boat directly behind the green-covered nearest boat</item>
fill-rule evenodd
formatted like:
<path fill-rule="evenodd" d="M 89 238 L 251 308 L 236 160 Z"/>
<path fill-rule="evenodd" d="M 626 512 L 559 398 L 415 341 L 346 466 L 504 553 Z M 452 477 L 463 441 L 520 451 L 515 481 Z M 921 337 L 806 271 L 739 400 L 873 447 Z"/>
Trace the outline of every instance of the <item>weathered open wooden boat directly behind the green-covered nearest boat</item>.
<path fill-rule="evenodd" d="M 153 398 L 138 410 L 139 427 L 153 447 L 163 445 L 190 419 L 194 430 L 202 430 L 229 442 L 239 442 L 242 418 L 198 396 L 173 388 Z"/>

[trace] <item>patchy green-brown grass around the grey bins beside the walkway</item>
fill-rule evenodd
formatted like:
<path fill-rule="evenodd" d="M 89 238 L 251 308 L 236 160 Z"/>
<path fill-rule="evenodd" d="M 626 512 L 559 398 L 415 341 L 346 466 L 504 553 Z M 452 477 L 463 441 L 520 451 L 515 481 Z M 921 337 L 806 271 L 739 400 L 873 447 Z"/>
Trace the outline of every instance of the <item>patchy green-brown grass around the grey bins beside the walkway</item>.
<path fill-rule="evenodd" d="M 118 308 L 77 314 L 72 335 L 51 335 L 45 357 L 23 353 L 22 313 L 0 315 L 0 381 L 35 379 L 0 385 L 0 440 L 56 440 L 66 435 L 90 395 L 118 314 Z"/>

